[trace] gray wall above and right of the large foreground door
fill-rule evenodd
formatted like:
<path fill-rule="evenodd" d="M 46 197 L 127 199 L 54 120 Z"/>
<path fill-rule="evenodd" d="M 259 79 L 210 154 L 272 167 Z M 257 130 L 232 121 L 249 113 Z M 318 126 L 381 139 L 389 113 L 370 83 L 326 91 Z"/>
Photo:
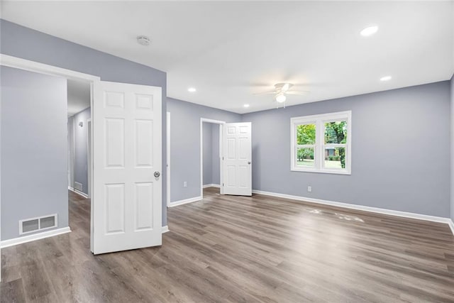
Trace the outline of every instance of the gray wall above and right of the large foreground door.
<path fill-rule="evenodd" d="M 165 167 L 167 92 L 165 72 L 40 33 L 3 19 L 0 19 L 0 50 L 5 55 L 96 75 L 104 81 L 162 87 L 162 167 Z M 166 171 L 162 170 L 161 173 L 162 225 L 167 225 Z"/>

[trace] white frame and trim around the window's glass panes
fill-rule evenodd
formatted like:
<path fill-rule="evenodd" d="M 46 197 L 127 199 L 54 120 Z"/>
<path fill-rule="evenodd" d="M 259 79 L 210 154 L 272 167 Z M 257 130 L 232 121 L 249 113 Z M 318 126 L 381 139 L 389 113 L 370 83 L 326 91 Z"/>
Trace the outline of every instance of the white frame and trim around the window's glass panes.
<path fill-rule="evenodd" d="M 290 119 L 290 170 L 294 172 L 319 172 L 325 174 L 351 175 L 352 165 L 352 112 L 338 111 L 336 113 L 319 114 L 312 116 L 300 116 Z M 330 121 L 347 121 L 347 143 L 345 144 L 324 144 L 323 138 L 325 122 Z M 314 147 L 314 167 L 297 166 L 297 148 L 303 145 L 297 145 L 297 125 L 299 124 L 316 124 L 316 139 L 313 145 L 304 145 L 306 147 Z M 341 146 L 345 147 L 345 168 L 324 168 L 324 150 L 326 146 Z"/>

